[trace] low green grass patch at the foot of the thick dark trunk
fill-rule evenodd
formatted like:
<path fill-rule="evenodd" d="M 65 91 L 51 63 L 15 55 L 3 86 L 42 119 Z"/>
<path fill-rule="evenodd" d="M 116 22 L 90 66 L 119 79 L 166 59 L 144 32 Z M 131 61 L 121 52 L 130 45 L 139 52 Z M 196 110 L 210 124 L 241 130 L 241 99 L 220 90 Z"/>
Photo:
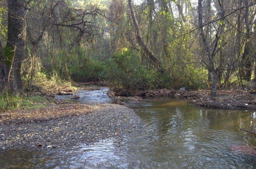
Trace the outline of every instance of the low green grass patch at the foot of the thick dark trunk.
<path fill-rule="evenodd" d="M 32 95 L 29 97 L 15 97 L 8 95 L 8 110 L 26 108 L 34 109 L 38 107 L 45 107 L 47 100 L 40 95 Z M 0 111 L 5 111 L 7 105 L 6 97 L 0 95 Z"/>

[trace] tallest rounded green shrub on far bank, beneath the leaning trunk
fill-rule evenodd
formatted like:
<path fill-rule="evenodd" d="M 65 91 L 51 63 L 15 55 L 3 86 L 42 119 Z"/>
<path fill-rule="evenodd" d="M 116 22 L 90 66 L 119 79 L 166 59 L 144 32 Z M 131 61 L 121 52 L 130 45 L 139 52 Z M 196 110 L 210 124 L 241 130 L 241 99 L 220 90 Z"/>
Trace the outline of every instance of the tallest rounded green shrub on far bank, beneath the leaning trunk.
<path fill-rule="evenodd" d="M 158 73 L 140 63 L 132 50 L 124 48 L 104 62 L 102 79 L 117 91 L 122 89 L 152 89 L 157 87 Z"/>

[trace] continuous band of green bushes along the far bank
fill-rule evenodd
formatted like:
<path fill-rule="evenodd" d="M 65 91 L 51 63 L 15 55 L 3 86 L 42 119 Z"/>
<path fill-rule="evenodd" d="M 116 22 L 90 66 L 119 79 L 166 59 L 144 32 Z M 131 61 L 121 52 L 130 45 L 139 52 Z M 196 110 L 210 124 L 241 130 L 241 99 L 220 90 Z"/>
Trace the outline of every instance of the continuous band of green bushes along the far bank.
<path fill-rule="evenodd" d="M 166 62 L 160 71 L 148 61 L 142 61 L 139 54 L 123 48 L 120 52 L 112 54 L 110 58 L 98 58 L 73 55 L 72 62 L 54 57 L 56 66 L 54 71 L 62 79 L 74 82 L 108 82 L 116 91 L 124 89 L 205 89 L 207 85 L 207 71 L 198 66 L 178 65 Z M 59 66 L 62 65 L 62 66 Z M 64 65 L 64 66 L 63 66 Z M 46 70 L 51 72 L 51 70 Z"/>

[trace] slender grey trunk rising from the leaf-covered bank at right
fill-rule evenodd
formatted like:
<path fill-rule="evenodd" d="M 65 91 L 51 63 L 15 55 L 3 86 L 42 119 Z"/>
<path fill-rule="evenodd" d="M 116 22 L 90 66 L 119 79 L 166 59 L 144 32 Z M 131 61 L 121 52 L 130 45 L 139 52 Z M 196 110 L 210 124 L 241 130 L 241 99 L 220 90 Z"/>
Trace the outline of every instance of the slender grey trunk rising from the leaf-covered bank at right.
<path fill-rule="evenodd" d="M 200 36 L 202 38 L 202 42 L 204 44 L 205 50 L 206 50 L 206 57 L 208 60 L 208 70 L 211 74 L 211 95 L 212 97 L 216 96 L 216 90 L 217 90 L 217 75 L 216 70 L 214 68 L 214 62 L 212 60 L 212 55 L 210 54 L 210 45 L 206 40 L 206 36 L 204 34 L 203 30 L 203 15 L 202 15 L 202 0 L 198 0 L 198 24 L 200 28 Z"/>

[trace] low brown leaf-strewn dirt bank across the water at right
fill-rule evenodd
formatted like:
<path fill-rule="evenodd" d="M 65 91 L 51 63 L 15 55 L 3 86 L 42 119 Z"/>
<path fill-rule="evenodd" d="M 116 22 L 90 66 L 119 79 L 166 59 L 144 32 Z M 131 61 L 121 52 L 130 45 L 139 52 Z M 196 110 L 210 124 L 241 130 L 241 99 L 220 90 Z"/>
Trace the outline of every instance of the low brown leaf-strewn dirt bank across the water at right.
<path fill-rule="evenodd" d="M 210 90 L 180 91 L 168 89 L 154 89 L 144 91 L 110 92 L 112 95 L 134 95 L 141 97 L 184 97 L 194 101 L 202 107 L 224 109 L 256 109 L 256 94 L 244 90 L 218 90 L 216 97 L 210 96 Z M 122 101 L 122 100 L 121 100 Z"/>

